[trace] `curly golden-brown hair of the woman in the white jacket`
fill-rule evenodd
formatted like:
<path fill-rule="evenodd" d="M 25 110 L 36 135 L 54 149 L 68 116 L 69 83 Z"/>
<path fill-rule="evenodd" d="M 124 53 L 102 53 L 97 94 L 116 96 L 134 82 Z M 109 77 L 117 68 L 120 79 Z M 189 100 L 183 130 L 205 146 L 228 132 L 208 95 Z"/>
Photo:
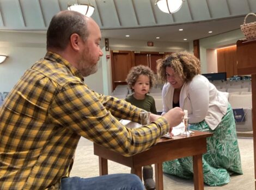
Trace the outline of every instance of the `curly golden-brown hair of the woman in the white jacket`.
<path fill-rule="evenodd" d="M 167 55 L 157 62 L 157 75 L 162 83 L 167 82 L 166 67 L 171 67 L 174 72 L 186 82 L 191 81 L 194 76 L 200 74 L 200 61 L 191 53 L 179 52 Z"/>

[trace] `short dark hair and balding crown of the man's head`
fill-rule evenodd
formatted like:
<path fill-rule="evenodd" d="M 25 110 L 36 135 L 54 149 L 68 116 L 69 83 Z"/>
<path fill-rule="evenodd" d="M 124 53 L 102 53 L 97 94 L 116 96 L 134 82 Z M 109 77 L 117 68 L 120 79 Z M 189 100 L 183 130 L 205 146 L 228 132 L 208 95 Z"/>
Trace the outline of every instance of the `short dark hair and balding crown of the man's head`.
<path fill-rule="evenodd" d="M 92 18 L 76 11 L 58 12 L 53 16 L 47 30 L 47 50 L 51 48 L 64 50 L 72 34 L 78 34 L 86 41 L 89 35 L 87 22 L 95 23 Z"/>

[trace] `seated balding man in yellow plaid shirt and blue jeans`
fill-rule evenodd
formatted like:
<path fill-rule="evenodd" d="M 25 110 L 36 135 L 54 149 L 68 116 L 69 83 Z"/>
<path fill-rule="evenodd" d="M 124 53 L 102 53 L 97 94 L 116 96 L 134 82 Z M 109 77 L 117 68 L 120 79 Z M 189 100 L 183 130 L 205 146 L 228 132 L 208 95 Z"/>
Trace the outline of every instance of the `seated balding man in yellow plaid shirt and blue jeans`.
<path fill-rule="evenodd" d="M 0 110 L 0 189 L 143 189 L 133 174 L 69 178 L 83 136 L 130 156 L 149 149 L 181 122 L 170 110 L 128 129 L 117 118 L 140 122 L 143 110 L 96 93 L 84 78 L 102 56 L 100 28 L 75 11 L 56 14 L 47 30 L 47 53 L 21 77 Z"/>

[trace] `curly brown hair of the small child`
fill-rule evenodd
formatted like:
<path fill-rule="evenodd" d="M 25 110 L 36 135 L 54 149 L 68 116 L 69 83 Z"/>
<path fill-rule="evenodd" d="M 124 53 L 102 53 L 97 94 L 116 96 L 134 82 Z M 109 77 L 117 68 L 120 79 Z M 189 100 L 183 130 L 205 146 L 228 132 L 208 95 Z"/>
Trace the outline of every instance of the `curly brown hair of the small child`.
<path fill-rule="evenodd" d="M 132 92 L 134 92 L 134 90 L 132 89 L 132 86 L 135 85 L 137 79 L 139 78 L 139 75 L 142 75 L 142 74 L 148 76 L 150 88 L 155 85 L 156 78 L 153 71 L 149 67 L 144 65 L 135 66 L 131 68 L 126 78 L 126 82 L 129 85 Z"/>

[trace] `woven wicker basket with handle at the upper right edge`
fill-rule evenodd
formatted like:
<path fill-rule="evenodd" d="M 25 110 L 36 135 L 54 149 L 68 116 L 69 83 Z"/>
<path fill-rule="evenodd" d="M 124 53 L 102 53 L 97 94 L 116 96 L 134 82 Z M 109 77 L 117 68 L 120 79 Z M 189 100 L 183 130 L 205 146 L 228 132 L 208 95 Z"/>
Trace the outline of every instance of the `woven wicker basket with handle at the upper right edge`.
<path fill-rule="evenodd" d="M 245 34 L 246 39 L 255 39 L 256 38 L 256 22 L 251 22 L 246 24 L 246 18 L 249 15 L 253 15 L 256 17 L 256 15 L 254 13 L 249 13 L 246 15 L 245 20 L 243 21 L 243 25 L 241 25 L 241 30 L 243 32 L 243 34 Z"/>

